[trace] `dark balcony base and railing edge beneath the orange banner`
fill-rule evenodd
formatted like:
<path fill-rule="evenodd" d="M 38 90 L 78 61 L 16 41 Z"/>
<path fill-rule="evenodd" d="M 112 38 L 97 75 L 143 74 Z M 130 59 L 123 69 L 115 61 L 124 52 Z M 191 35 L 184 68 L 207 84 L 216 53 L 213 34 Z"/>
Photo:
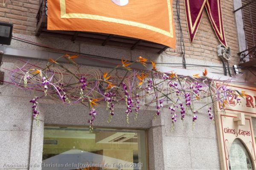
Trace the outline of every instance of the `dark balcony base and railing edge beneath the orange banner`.
<path fill-rule="evenodd" d="M 113 34 L 101 34 L 81 31 L 50 31 L 47 30 L 47 11 L 47 0 L 41 0 L 41 6 L 37 14 L 36 36 L 39 36 L 42 33 L 56 35 L 59 34 L 63 37 L 69 38 L 70 41 L 90 42 L 100 44 L 103 46 L 114 45 L 119 47 L 130 48 L 131 50 L 138 49 L 145 51 L 153 51 L 157 52 L 158 54 L 162 53 L 167 48 L 169 48 L 166 45 L 161 45 L 154 42 Z"/>

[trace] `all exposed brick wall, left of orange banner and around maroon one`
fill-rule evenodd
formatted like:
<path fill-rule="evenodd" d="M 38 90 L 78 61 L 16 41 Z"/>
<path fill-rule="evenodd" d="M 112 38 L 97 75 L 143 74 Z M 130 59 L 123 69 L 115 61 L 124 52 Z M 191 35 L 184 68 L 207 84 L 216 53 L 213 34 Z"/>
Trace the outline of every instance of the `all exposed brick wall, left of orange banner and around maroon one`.
<path fill-rule="evenodd" d="M 14 23 L 14 32 L 21 34 L 34 34 L 36 27 L 36 14 L 39 8 L 40 0 L 6 0 L 6 6 L 3 6 L 3 0 L 0 0 L 0 21 Z M 194 39 L 193 44 L 190 43 L 189 35 L 187 31 L 184 1 L 180 0 L 180 18 L 181 26 L 184 34 L 184 42 L 186 46 L 186 58 L 202 59 L 205 61 L 212 61 L 220 63 L 220 59 L 217 56 L 218 41 L 211 23 L 208 19 L 207 12 L 204 10 L 204 14 L 198 28 L 198 32 Z M 177 45 L 176 50 L 167 49 L 167 54 L 179 56 L 179 37 L 180 31 L 177 22 L 177 10 L 176 0 L 173 2 Z M 236 32 L 236 23 L 233 14 L 233 0 L 222 0 L 223 9 L 223 22 L 224 30 L 226 34 L 227 44 L 232 49 L 232 62 L 237 64 L 239 57 L 237 53 L 238 38 Z M 207 64 L 207 63 L 206 63 Z"/>

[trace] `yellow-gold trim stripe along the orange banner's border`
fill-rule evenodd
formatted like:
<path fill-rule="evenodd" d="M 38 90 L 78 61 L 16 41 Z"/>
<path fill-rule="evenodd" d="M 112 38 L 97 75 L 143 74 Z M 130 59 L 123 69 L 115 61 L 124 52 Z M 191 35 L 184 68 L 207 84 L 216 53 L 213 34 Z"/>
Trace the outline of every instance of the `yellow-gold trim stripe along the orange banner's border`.
<path fill-rule="evenodd" d="M 83 18 L 83 19 L 90 19 L 90 20 L 100 20 L 100 21 L 107 21 L 112 23 L 119 23 L 119 24 L 125 24 L 128 26 L 135 26 L 139 28 L 145 28 L 163 35 L 166 35 L 168 37 L 173 38 L 173 28 L 172 28 L 172 6 L 170 3 L 170 0 L 167 0 L 167 6 L 168 6 L 168 13 L 169 13 L 169 23 L 170 23 L 170 32 L 165 31 L 163 29 L 149 26 L 143 23 L 137 23 L 134 21 L 128 21 L 128 20 L 122 20 L 122 19 L 116 19 L 111 17 L 104 17 L 100 15 L 93 15 L 93 14 L 77 14 L 77 13 L 66 13 L 66 3 L 65 0 L 60 0 L 60 7 L 61 7 L 61 18 Z"/>

